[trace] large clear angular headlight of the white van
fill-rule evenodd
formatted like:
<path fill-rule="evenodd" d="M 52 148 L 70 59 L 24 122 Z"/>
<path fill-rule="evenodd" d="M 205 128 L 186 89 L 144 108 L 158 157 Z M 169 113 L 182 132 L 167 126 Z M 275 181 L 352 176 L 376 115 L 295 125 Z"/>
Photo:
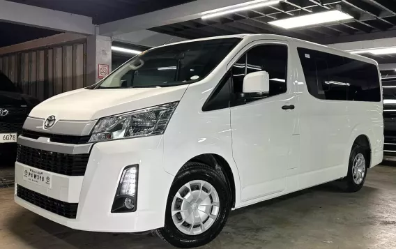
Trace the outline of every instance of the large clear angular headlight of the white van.
<path fill-rule="evenodd" d="M 163 134 L 177 104 L 158 105 L 99 119 L 89 142 Z"/>

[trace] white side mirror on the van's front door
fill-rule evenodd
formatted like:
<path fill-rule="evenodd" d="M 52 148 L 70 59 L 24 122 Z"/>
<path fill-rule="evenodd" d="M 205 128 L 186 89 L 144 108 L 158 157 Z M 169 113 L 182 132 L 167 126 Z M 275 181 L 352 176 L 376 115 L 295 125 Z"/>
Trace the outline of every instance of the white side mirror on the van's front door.
<path fill-rule="evenodd" d="M 270 75 L 266 71 L 249 73 L 243 79 L 243 93 L 266 93 L 270 91 Z"/>

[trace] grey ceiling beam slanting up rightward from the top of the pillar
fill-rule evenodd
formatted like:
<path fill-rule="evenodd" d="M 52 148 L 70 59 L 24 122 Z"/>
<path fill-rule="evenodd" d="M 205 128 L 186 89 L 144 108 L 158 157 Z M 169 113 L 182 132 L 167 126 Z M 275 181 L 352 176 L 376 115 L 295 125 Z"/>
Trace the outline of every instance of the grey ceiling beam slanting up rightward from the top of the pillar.
<path fill-rule="evenodd" d="M 178 6 L 164 8 L 143 15 L 136 15 L 125 19 L 99 25 L 99 33 L 114 36 L 141 29 L 151 29 L 178 22 L 185 22 L 201 18 L 201 13 L 207 10 L 233 6 L 250 0 L 197 0 Z"/>

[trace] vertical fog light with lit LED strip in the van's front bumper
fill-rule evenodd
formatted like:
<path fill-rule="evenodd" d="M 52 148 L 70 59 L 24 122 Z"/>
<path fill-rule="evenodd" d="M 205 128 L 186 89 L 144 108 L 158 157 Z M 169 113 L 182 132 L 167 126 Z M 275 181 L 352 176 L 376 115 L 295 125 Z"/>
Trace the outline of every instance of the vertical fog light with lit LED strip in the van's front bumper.
<path fill-rule="evenodd" d="M 114 197 L 112 213 L 136 211 L 137 168 L 138 165 L 132 165 L 123 169 L 119 187 Z"/>

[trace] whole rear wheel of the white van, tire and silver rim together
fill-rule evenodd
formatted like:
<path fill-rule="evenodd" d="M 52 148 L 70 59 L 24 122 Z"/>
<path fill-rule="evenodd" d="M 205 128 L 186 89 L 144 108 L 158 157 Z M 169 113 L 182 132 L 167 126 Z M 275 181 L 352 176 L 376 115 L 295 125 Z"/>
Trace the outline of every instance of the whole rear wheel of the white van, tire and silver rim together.
<path fill-rule="evenodd" d="M 370 153 L 370 151 L 367 149 L 367 147 L 360 144 L 353 144 L 351 154 L 349 156 L 348 174 L 343 179 L 345 192 L 355 193 L 363 188 L 367 176 L 367 169 L 370 166 L 370 161 L 368 160 L 368 153 Z M 359 158 L 361 158 L 361 156 L 363 156 L 364 162 L 361 163 L 360 169 L 358 169 L 354 167 L 353 164 L 358 163 L 358 160 Z M 356 170 L 360 172 L 360 175 L 363 172 L 363 176 L 360 177 L 359 173 L 356 173 Z"/>

